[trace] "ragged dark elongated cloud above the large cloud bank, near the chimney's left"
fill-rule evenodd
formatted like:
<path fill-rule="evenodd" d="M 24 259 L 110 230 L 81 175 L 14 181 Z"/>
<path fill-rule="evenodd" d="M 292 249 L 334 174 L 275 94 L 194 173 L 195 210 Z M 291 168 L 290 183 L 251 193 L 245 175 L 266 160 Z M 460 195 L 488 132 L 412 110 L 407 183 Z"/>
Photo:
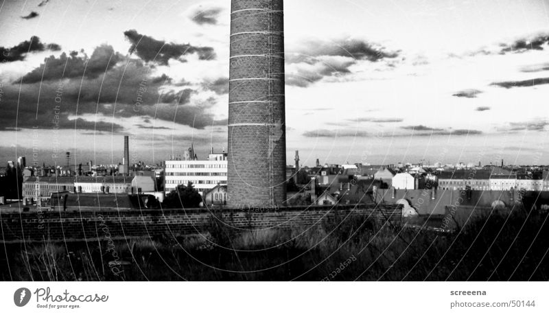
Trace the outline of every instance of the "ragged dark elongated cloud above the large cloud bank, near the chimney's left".
<path fill-rule="evenodd" d="M 132 43 L 130 54 L 136 54 L 145 61 L 154 61 L 161 65 L 167 65 L 170 59 L 185 61 L 182 57 L 188 54 L 198 54 L 200 60 L 215 58 L 212 47 L 166 43 L 163 40 L 156 40 L 150 36 L 141 35 L 136 30 L 128 30 L 124 32 L 124 35 Z"/>

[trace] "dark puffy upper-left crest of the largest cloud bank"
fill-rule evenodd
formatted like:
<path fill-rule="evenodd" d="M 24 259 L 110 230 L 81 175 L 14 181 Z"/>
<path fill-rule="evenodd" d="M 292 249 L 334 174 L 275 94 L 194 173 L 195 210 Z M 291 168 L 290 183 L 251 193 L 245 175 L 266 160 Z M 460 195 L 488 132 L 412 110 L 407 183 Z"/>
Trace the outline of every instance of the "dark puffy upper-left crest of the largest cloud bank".
<path fill-rule="evenodd" d="M 116 53 L 113 47 L 102 45 L 97 47 L 91 57 L 78 56 L 76 51 L 69 56 L 49 56 L 40 67 L 23 76 L 23 83 L 43 82 L 47 80 L 61 80 L 64 78 L 97 78 L 113 69 L 123 56 Z"/>

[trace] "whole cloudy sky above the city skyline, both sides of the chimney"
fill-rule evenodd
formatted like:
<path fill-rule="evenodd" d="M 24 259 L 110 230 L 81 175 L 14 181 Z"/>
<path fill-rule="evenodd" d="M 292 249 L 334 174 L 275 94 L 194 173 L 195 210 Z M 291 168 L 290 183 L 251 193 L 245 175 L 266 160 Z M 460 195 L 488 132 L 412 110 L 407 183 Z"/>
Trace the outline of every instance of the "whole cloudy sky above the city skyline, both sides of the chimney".
<path fill-rule="evenodd" d="M 1 2 L 0 159 L 226 147 L 229 4 Z M 285 1 L 285 42 L 288 163 L 549 164 L 549 0 Z"/>

